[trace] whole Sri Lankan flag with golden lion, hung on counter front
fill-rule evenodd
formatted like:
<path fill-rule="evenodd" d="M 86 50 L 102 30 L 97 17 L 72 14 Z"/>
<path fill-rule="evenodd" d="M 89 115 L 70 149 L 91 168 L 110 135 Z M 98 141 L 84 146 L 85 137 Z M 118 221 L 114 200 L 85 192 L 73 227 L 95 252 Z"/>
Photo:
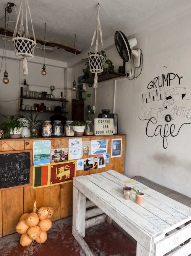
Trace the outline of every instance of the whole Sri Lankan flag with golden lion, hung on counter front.
<path fill-rule="evenodd" d="M 76 176 L 76 161 L 33 167 L 33 188 L 49 187 L 73 181 Z"/>

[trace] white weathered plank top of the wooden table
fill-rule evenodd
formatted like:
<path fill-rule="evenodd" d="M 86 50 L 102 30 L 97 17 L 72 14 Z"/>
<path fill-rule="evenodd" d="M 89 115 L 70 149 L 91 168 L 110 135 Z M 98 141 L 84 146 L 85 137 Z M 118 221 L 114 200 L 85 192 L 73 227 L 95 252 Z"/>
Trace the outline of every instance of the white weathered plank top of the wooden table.
<path fill-rule="evenodd" d="M 191 220 L 191 208 L 172 198 L 145 186 L 144 203 L 135 203 L 135 194 L 125 200 L 122 194 L 123 182 L 132 180 L 114 170 L 74 178 L 74 186 L 83 185 L 88 192 L 94 193 L 97 200 L 104 201 L 116 213 L 125 217 L 134 226 L 149 236 L 167 233 Z M 136 182 L 134 180 L 134 182 Z M 139 182 L 136 182 L 140 185 Z M 80 189 L 79 189 L 80 190 Z M 88 197 L 88 196 L 87 196 Z M 96 203 L 96 202 L 94 202 Z"/>

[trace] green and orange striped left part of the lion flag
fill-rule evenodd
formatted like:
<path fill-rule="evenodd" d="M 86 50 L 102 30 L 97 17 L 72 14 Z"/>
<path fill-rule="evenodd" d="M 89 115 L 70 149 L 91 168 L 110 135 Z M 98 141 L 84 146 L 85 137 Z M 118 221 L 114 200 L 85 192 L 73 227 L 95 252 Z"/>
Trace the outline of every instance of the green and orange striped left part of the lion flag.
<path fill-rule="evenodd" d="M 33 167 L 33 188 L 46 187 L 48 185 L 48 165 Z"/>

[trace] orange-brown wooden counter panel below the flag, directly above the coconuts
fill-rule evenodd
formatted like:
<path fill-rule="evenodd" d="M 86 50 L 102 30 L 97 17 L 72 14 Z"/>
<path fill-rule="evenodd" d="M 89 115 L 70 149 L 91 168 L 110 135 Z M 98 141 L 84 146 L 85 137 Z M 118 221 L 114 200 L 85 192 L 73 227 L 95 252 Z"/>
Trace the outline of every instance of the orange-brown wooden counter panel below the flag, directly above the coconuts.
<path fill-rule="evenodd" d="M 52 187 L 24 188 L 24 212 L 29 213 L 33 209 L 34 201 L 37 201 L 37 208 L 51 206 L 54 209 L 53 220 L 60 219 L 60 185 Z"/>

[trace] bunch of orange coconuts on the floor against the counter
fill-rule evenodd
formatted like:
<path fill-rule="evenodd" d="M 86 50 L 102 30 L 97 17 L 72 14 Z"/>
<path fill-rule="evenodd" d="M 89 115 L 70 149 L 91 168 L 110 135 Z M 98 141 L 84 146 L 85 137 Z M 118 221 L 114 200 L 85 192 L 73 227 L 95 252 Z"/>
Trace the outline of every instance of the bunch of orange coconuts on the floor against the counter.
<path fill-rule="evenodd" d="M 53 215 L 53 208 L 42 206 L 36 208 L 36 201 L 32 213 L 24 213 L 16 225 L 16 231 L 21 235 L 20 244 L 28 246 L 32 242 L 44 243 L 47 239 L 47 231 L 52 226 L 50 218 Z"/>

